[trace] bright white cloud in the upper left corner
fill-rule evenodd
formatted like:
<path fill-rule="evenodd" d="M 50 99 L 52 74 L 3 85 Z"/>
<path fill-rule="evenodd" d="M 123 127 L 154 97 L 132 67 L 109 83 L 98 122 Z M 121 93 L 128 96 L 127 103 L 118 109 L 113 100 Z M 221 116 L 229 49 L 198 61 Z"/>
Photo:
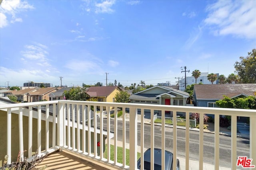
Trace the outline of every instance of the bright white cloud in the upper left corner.
<path fill-rule="evenodd" d="M 26 1 L 20 0 L 3 0 L 0 6 L 0 27 L 8 25 L 8 18 L 11 17 L 10 23 L 22 22 L 22 18 L 16 18 L 16 15 L 22 11 L 32 10 L 34 6 L 28 4 Z"/>

